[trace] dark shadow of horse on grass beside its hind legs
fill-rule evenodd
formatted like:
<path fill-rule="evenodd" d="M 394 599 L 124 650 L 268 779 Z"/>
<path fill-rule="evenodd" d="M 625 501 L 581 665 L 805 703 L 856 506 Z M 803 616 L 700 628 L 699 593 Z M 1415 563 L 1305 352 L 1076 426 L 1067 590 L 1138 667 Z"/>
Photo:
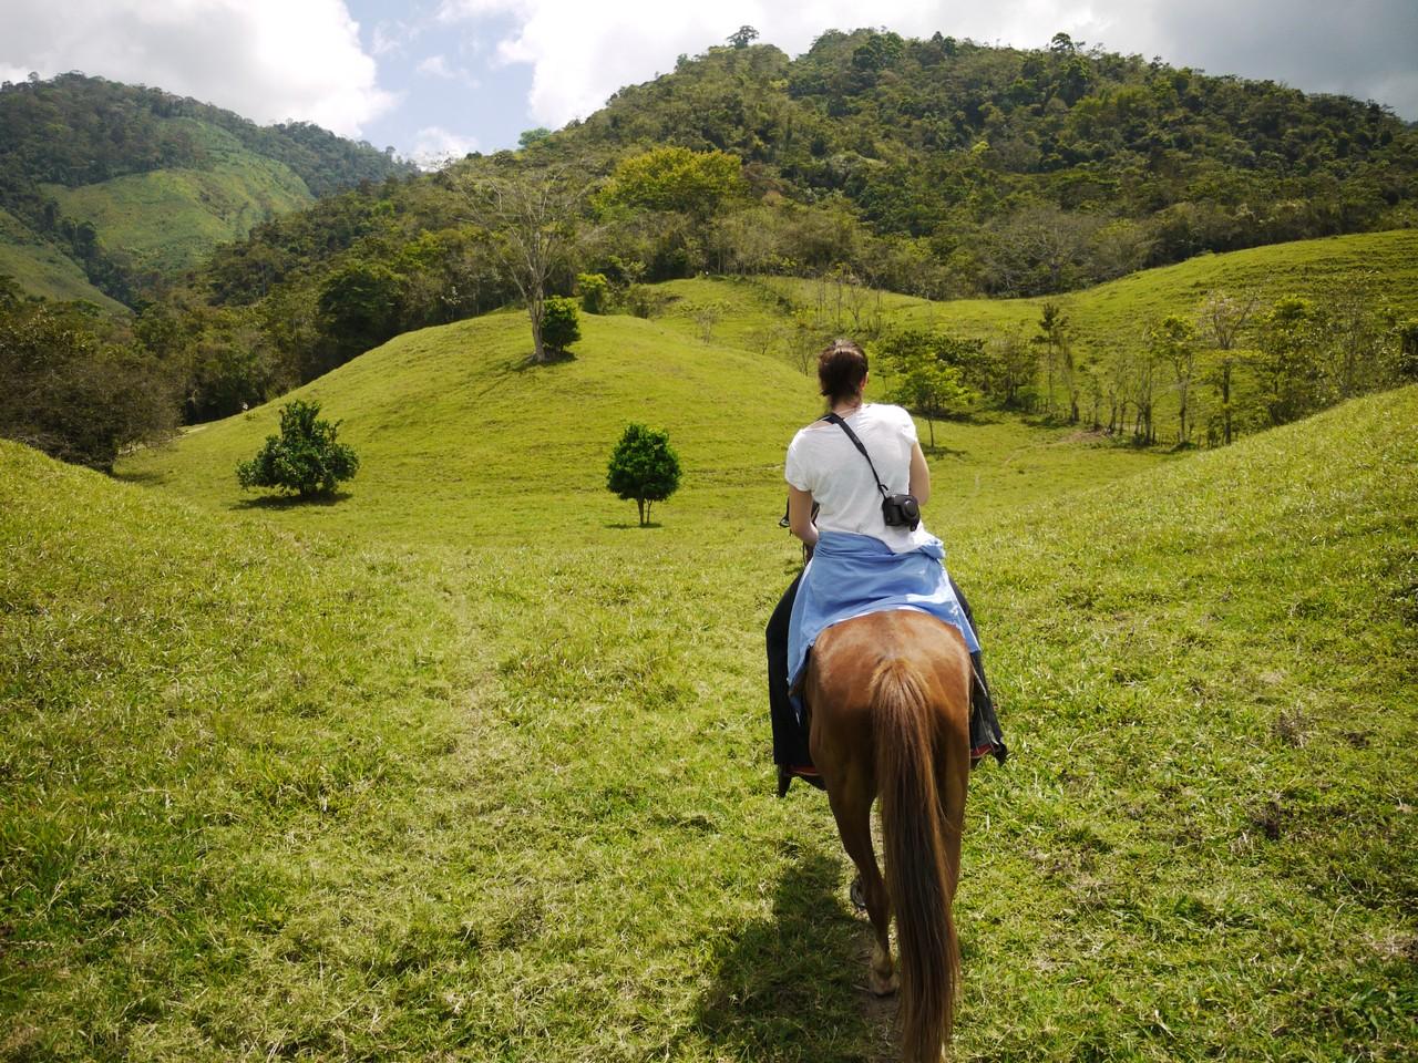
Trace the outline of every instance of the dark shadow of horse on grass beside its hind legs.
<path fill-rule="evenodd" d="M 691 1030 L 715 1056 L 862 1060 L 891 1054 L 895 1002 L 866 991 L 871 927 L 847 910 L 842 860 L 807 853 L 778 882 L 773 914 L 719 944 Z"/>

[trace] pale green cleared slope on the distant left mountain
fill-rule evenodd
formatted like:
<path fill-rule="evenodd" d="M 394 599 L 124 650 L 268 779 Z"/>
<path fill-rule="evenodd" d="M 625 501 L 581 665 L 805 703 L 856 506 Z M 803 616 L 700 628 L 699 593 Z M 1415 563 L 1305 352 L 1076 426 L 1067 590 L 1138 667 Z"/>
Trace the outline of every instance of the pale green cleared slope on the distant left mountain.
<path fill-rule="evenodd" d="M 285 163 L 245 150 L 225 130 L 180 119 L 207 152 L 204 169 L 163 169 L 65 189 L 47 184 L 60 210 L 92 221 L 108 251 L 139 268 L 173 272 L 275 214 L 305 207 L 309 189 Z"/>

